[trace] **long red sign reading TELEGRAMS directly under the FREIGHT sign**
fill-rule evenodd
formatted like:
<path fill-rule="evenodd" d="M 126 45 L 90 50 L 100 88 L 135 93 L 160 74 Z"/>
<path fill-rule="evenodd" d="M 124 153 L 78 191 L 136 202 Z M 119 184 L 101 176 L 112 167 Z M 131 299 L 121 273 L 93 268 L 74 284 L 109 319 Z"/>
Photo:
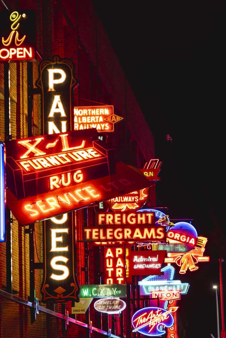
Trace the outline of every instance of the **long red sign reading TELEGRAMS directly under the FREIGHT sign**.
<path fill-rule="evenodd" d="M 122 226 L 83 228 L 85 242 L 101 241 L 165 241 L 166 229 L 164 226 Z"/>

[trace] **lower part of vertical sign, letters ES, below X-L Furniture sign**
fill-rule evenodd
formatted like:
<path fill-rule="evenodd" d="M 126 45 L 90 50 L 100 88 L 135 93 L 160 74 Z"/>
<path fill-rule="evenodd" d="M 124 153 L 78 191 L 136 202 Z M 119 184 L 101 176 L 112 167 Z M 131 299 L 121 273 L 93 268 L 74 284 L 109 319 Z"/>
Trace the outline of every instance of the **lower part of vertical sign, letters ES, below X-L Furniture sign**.
<path fill-rule="evenodd" d="M 72 214 L 65 216 L 65 219 L 53 218 L 51 227 L 44 223 L 45 269 L 41 287 L 43 302 L 78 300 L 74 226 Z"/>

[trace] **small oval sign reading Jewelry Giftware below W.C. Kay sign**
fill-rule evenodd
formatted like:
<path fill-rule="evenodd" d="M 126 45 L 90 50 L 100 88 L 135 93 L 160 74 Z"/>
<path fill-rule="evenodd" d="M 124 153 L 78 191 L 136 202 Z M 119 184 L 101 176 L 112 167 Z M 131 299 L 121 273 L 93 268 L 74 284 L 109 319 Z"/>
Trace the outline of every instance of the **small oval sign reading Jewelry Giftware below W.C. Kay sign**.
<path fill-rule="evenodd" d="M 124 300 L 119 298 L 105 298 L 96 300 L 94 303 L 95 310 L 108 314 L 121 313 L 126 308 Z"/>

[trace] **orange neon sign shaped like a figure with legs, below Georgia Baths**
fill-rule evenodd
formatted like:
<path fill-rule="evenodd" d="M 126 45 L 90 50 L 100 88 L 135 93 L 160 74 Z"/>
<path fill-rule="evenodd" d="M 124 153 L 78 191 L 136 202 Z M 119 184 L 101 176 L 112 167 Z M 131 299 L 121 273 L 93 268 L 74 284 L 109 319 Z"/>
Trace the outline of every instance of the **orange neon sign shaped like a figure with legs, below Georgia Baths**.
<path fill-rule="evenodd" d="M 179 273 L 184 274 L 188 270 L 193 272 L 199 269 L 196 265 L 198 262 L 209 262 L 209 256 L 203 256 L 205 251 L 205 245 L 207 243 L 207 238 L 198 236 L 196 246 L 186 252 L 185 254 L 167 254 L 168 257 L 165 258 L 165 263 L 176 263 L 180 266 Z"/>

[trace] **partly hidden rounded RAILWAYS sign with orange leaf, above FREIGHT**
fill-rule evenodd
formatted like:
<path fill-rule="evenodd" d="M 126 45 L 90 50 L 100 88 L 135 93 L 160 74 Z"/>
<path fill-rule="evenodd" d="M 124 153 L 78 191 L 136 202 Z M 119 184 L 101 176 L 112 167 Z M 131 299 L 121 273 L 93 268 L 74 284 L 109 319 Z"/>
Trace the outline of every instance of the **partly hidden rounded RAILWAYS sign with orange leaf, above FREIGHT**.
<path fill-rule="evenodd" d="M 147 201 L 149 188 L 132 191 L 127 195 L 117 196 L 105 201 L 107 207 L 111 210 L 137 210 L 143 207 Z"/>

